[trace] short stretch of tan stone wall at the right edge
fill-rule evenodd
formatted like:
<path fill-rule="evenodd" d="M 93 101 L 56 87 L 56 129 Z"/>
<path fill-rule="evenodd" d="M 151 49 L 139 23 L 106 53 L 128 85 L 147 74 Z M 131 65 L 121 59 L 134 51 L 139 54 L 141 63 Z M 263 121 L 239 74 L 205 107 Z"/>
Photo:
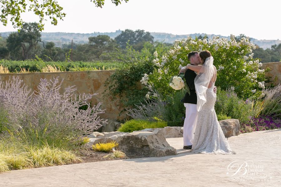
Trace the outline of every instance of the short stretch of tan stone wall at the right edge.
<path fill-rule="evenodd" d="M 270 72 L 266 75 L 270 77 L 270 80 L 275 84 L 281 84 L 281 62 L 268 62 L 263 63 L 261 69 L 270 68 Z"/>

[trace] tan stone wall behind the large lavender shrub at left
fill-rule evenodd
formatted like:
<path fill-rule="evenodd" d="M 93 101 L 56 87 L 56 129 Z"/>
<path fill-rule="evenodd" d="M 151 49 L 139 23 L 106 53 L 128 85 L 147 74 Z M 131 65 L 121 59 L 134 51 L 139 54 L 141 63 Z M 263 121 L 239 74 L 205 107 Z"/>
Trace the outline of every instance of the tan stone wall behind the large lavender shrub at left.
<path fill-rule="evenodd" d="M 102 118 L 121 120 L 125 114 L 119 116 L 122 107 L 118 107 L 118 100 L 111 101 L 111 97 L 103 95 L 105 90 L 104 83 L 106 79 L 114 73 L 115 70 L 100 70 L 100 71 L 75 71 L 75 72 L 52 72 L 52 73 L 10 73 L 0 74 L 2 80 L 9 79 L 10 76 L 20 76 L 29 89 L 36 90 L 40 79 L 50 80 L 55 77 L 64 79 L 60 92 L 62 93 L 68 86 L 75 85 L 76 94 L 82 93 L 98 93 L 91 99 L 91 105 L 102 102 L 101 109 L 106 109 L 101 115 Z M 103 97 L 105 96 L 105 97 Z M 90 102 L 90 101 L 89 101 Z"/>

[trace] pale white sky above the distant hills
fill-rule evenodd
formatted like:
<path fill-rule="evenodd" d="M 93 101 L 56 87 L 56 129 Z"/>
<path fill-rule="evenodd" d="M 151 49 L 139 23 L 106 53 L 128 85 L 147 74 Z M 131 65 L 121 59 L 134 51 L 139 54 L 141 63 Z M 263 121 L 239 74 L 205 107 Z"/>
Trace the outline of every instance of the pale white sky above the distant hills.
<path fill-rule="evenodd" d="M 103 8 L 90 0 L 57 0 L 67 15 L 57 26 L 45 21 L 43 32 L 115 32 L 141 29 L 171 34 L 230 34 L 259 40 L 281 40 L 278 0 L 129 0 L 117 7 L 105 0 Z M 22 15 L 24 22 L 36 22 L 32 12 Z M 16 31 L 12 24 L 0 32 Z"/>

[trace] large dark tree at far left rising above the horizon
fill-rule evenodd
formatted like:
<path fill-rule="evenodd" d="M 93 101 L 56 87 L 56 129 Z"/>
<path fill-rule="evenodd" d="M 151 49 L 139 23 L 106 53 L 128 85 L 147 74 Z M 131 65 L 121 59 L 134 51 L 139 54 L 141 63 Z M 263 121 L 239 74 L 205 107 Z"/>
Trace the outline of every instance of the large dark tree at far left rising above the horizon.
<path fill-rule="evenodd" d="M 21 56 L 22 60 L 26 60 L 38 41 L 41 42 L 38 24 L 35 22 L 24 23 L 20 32 L 13 32 L 8 36 L 7 48 L 15 58 Z M 22 55 L 18 54 L 20 49 L 22 49 Z"/>

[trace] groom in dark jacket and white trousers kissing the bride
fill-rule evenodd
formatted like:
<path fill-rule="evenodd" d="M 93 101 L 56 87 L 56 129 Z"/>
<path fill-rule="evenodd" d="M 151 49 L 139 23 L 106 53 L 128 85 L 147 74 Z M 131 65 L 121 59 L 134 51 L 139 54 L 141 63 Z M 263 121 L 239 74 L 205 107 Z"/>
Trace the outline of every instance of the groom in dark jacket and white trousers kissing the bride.
<path fill-rule="evenodd" d="M 199 52 L 192 51 L 188 54 L 188 60 L 191 65 L 200 65 Z M 180 73 L 185 72 L 185 81 L 190 89 L 189 93 L 185 93 L 185 97 L 181 100 L 185 106 L 185 121 L 183 129 L 184 149 L 191 149 L 194 139 L 194 132 L 197 123 L 197 95 L 195 91 L 194 79 L 196 73 L 190 69 L 184 68 L 180 70 Z M 216 93 L 216 87 L 214 88 Z"/>

